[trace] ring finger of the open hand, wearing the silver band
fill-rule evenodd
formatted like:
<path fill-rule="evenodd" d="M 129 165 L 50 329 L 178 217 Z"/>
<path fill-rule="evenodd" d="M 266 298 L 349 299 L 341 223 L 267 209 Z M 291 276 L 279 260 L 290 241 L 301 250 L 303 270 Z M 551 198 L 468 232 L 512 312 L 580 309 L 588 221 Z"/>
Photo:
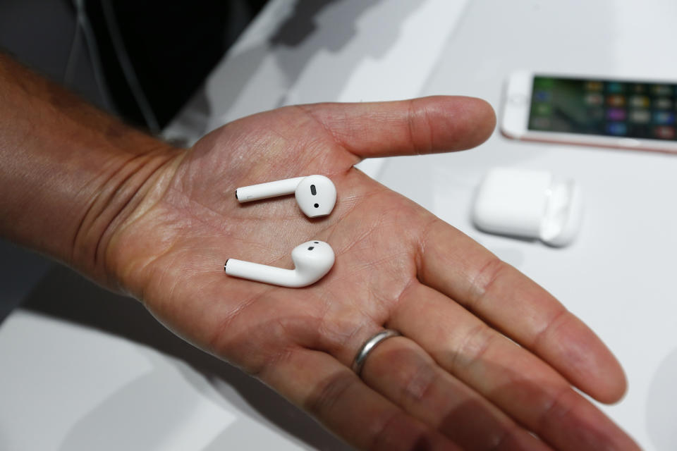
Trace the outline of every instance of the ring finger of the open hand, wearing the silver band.
<path fill-rule="evenodd" d="M 303 345 L 327 352 L 350 368 L 360 347 L 383 331 L 379 321 L 387 316 L 372 318 L 355 326 L 345 322 L 345 312 L 334 312 L 324 319 L 327 326 L 321 328 L 324 333 L 316 336 L 319 342 Z M 337 324 L 343 324 L 341 330 L 352 332 L 336 333 Z M 386 338 L 372 347 L 360 377 L 370 388 L 463 449 L 549 449 L 482 395 L 438 366 L 406 336 Z"/>

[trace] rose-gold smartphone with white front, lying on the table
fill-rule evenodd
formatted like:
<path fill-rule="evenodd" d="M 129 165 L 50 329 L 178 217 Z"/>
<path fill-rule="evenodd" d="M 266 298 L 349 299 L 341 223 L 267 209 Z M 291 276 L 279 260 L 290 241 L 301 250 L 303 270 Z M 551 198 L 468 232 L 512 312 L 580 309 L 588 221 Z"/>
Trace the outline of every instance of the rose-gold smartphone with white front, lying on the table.
<path fill-rule="evenodd" d="M 517 140 L 677 153 L 677 83 L 520 71 L 501 132 Z"/>

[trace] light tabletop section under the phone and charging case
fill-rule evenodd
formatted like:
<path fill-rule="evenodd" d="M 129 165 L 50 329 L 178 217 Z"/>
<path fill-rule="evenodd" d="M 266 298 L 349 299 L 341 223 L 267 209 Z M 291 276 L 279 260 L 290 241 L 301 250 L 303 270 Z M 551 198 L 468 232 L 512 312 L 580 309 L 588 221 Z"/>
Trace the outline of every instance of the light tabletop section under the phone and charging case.
<path fill-rule="evenodd" d="M 672 1 L 473 1 L 420 94 L 468 94 L 499 110 L 513 70 L 677 80 Z M 583 190 L 578 240 L 554 249 L 477 231 L 473 194 L 493 166 L 547 170 Z M 417 183 L 406 183 L 417 177 Z M 647 450 L 677 449 L 677 155 L 507 140 L 458 154 L 389 159 L 382 183 L 482 242 L 558 297 L 628 374 L 602 408 Z"/>

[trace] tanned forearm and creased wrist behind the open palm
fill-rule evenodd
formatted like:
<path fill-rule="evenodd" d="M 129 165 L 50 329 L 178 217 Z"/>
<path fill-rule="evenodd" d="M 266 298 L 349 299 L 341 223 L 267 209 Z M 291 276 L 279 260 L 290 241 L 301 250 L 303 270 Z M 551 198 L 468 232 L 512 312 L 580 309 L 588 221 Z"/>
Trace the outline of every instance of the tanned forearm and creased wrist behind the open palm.
<path fill-rule="evenodd" d="M 111 237 L 183 152 L 0 53 L 0 235 L 111 285 Z"/>

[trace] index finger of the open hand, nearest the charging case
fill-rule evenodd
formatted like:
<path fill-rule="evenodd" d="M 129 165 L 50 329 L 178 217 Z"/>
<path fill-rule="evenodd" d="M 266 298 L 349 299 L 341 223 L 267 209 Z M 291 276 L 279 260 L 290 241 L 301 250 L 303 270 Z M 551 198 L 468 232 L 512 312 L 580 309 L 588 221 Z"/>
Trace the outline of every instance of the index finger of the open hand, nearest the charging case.
<path fill-rule="evenodd" d="M 537 354 L 585 393 L 601 402 L 625 393 L 623 369 L 602 340 L 546 290 L 467 235 L 434 221 L 418 261 L 422 283 Z"/>

